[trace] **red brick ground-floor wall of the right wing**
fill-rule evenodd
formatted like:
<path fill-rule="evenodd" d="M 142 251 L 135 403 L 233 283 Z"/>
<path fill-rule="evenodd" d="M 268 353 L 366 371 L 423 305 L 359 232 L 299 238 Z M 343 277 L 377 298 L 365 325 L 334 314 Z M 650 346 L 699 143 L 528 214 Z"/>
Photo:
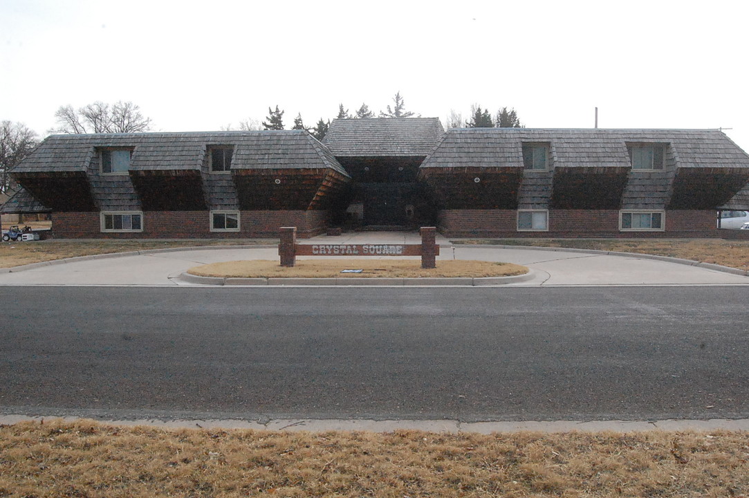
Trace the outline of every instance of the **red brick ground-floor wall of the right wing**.
<path fill-rule="evenodd" d="M 619 231 L 619 210 L 549 210 L 549 231 L 518 231 L 515 210 L 442 210 L 438 226 L 448 237 L 739 237 L 718 230 L 715 216 L 666 211 L 665 231 Z"/>

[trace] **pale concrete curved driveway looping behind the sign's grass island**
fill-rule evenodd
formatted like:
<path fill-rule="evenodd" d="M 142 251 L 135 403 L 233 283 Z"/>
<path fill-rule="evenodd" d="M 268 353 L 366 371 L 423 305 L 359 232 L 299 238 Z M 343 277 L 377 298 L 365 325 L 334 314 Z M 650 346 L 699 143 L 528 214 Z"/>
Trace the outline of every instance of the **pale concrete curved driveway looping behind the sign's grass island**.
<path fill-rule="evenodd" d="M 369 232 L 315 237 L 302 243 L 418 243 L 418 234 Z M 446 259 L 504 261 L 529 267 L 532 278 L 507 285 L 749 285 L 749 276 L 653 259 L 595 252 L 501 246 L 452 246 L 438 237 Z M 0 285 L 195 285 L 180 279 L 191 267 L 218 261 L 278 261 L 275 246 L 189 249 L 108 255 L 0 273 Z M 19 271 L 20 270 L 20 271 Z M 352 282 L 354 283 L 354 282 Z"/>

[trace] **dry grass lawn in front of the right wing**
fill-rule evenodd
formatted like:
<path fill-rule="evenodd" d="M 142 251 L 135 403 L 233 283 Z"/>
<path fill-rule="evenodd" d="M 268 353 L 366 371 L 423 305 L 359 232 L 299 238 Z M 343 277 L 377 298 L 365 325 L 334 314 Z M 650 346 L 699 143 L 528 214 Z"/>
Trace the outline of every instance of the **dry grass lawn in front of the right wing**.
<path fill-rule="evenodd" d="M 466 244 L 570 247 L 598 251 L 636 252 L 691 259 L 749 270 L 749 240 L 722 239 L 477 239 Z"/>

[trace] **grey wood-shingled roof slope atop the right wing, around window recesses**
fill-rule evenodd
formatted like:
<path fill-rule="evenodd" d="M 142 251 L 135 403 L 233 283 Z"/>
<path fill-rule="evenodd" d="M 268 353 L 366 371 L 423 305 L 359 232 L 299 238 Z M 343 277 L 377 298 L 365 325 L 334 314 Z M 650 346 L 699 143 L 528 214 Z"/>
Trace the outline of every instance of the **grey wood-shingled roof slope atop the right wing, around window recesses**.
<path fill-rule="evenodd" d="M 548 142 L 551 166 L 629 167 L 628 143 L 670 144 L 679 168 L 747 168 L 749 155 L 720 130 L 454 128 L 422 168 L 523 167 L 524 142 Z"/>

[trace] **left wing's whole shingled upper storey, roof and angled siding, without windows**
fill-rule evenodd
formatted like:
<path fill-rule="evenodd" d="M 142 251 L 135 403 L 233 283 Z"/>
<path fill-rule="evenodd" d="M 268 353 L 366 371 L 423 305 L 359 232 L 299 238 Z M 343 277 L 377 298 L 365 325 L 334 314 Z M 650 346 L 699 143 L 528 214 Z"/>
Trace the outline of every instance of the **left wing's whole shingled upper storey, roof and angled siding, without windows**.
<path fill-rule="evenodd" d="M 228 174 L 210 171 L 212 147 L 233 152 Z M 102 151 L 118 148 L 132 151 L 129 168 L 104 173 Z M 349 180 L 303 130 L 50 136 L 13 174 L 55 211 L 320 209 Z"/>

